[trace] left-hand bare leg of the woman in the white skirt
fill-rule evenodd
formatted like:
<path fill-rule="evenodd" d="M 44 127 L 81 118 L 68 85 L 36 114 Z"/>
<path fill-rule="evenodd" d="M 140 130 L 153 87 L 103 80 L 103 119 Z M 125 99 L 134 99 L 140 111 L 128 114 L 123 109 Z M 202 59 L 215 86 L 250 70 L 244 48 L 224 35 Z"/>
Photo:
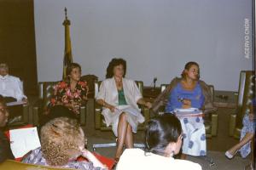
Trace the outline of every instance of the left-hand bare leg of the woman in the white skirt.
<path fill-rule="evenodd" d="M 125 144 L 125 137 L 127 133 L 127 127 L 128 127 L 128 122 L 126 120 L 126 115 L 125 113 L 121 113 L 119 116 L 119 124 L 118 124 L 118 141 L 117 141 L 117 150 L 115 153 L 115 158 L 119 158 L 123 152 L 123 146 Z"/>

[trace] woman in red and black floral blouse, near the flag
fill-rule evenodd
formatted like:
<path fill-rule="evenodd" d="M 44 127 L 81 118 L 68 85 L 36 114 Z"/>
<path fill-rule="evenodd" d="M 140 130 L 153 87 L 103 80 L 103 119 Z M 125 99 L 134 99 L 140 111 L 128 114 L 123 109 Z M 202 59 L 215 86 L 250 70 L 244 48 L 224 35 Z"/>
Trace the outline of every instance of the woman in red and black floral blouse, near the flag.
<path fill-rule="evenodd" d="M 87 82 L 80 81 L 81 66 L 71 63 L 67 67 L 67 78 L 55 85 L 54 96 L 50 100 L 49 107 L 64 105 L 76 115 L 79 114 L 81 105 L 87 101 Z"/>

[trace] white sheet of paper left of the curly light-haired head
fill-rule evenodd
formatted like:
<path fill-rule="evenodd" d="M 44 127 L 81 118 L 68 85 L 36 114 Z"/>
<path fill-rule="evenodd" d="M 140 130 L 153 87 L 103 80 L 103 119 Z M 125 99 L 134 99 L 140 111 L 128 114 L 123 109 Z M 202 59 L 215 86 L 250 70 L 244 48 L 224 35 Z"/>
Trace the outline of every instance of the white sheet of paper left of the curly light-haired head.
<path fill-rule="evenodd" d="M 9 136 L 10 147 L 15 158 L 22 157 L 30 150 L 41 146 L 37 127 L 10 130 Z"/>

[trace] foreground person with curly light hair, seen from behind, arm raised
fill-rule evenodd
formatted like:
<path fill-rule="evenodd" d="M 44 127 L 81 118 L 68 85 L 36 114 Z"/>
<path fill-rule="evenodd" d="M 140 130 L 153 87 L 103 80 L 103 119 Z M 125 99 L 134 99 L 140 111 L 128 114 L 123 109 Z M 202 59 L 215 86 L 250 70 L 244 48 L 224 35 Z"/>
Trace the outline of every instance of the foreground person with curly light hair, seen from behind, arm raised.
<path fill-rule="evenodd" d="M 89 150 L 84 149 L 84 132 L 75 119 L 57 117 L 47 122 L 41 129 L 40 139 L 41 147 L 32 150 L 23 162 L 84 170 L 107 169 Z M 79 156 L 89 161 L 76 161 Z"/>

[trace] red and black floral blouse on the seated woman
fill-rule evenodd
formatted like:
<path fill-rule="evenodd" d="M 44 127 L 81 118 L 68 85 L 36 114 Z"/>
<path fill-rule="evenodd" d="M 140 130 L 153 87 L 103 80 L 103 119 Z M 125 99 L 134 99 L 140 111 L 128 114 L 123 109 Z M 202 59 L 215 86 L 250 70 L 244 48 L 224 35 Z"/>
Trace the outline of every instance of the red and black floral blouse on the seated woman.
<path fill-rule="evenodd" d="M 79 114 L 80 106 L 87 100 L 89 88 L 87 82 L 79 81 L 72 91 L 70 82 L 61 81 L 55 85 L 53 98 L 50 99 L 49 107 L 60 104 L 71 104 L 77 102 L 79 105 L 71 109 L 74 113 Z"/>

